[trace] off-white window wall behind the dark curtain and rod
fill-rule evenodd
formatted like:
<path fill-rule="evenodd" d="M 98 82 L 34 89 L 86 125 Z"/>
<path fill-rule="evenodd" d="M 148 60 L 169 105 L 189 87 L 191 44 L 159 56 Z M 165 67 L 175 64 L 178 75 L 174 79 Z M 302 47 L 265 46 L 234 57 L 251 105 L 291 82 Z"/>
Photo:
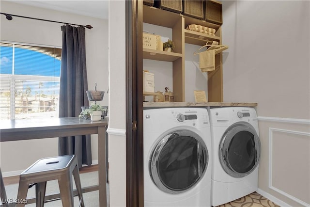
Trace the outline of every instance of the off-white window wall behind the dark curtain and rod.
<path fill-rule="evenodd" d="M 74 3 L 74 1 L 72 1 Z M 15 2 L 1 0 L 0 11 L 20 16 L 31 16 L 54 21 L 69 22 L 81 25 L 90 24 L 92 30 L 86 29 L 86 63 L 88 87 L 97 90 L 108 90 L 108 20 L 57 12 L 32 7 Z M 4 15 L 0 17 L 0 39 L 17 43 L 39 44 L 43 46 L 62 46 L 62 24 L 13 17 L 8 21 Z M 100 46 L 100 47 L 99 47 Z M 108 106 L 108 95 L 100 102 Z M 92 135 L 92 156 L 98 160 L 97 135 Z M 58 156 L 58 139 L 43 139 L 1 143 L 1 171 L 6 175 L 19 175 L 37 159 Z"/>

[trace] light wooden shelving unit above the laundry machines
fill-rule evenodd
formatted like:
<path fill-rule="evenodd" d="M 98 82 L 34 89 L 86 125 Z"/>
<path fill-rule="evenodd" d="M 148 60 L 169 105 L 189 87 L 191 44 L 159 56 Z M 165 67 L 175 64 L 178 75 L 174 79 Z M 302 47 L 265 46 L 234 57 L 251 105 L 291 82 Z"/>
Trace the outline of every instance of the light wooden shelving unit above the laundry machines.
<path fill-rule="evenodd" d="M 163 9 L 143 5 L 143 22 L 172 29 L 173 52 L 143 48 L 143 58 L 172 62 L 173 95 L 175 102 L 185 101 L 185 43 L 203 46 L 207 40 L 222 44 L 220 25 Z M 216 29 L 216 35 L 186 30 L 189 24 L 199 24 Z M 216 55 L 216 70 L 208 72 L 208 100 L 223 101 L 222 54 Z M 149 96 L 149 95 L 144 95 Z"/>

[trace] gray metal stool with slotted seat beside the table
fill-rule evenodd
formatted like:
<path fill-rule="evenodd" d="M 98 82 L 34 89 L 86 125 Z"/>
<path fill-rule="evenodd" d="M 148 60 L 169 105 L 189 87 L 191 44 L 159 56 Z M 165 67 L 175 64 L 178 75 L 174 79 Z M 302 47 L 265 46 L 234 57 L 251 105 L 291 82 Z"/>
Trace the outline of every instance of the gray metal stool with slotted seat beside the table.
<path fill-rule="evenodd" d="M 17 201 L 25 201 L 29 185 L 35 184 L 36 207 L 44 206 L 47 181 L 58 180 L 63 207 L 74 207 L 72 175 L 76 183 L 79 205 L 84 206 L 78 172 L 78 160 L 74 155 L 64 155 L 37 160 L 19 175 Z M 24 207 L 25 202 L 16 203 Z"/>

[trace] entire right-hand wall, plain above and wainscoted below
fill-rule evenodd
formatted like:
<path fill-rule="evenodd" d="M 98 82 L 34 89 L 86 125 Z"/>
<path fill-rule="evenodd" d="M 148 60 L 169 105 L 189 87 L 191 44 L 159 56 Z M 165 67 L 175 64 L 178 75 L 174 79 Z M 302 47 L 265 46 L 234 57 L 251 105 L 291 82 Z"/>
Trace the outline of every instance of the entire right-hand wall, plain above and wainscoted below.
<path fill-rule="evenodd" d="M 259 189 L 310 205 L 310 1 L 222 1 L 225 102 L 257 102 Z"/>

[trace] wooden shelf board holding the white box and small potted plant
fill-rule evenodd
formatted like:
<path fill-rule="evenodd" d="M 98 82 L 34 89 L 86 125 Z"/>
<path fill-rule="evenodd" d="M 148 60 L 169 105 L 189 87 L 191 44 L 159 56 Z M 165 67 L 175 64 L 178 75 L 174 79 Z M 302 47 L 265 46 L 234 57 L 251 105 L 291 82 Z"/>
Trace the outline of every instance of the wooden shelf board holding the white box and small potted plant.
<path fill-rule="evenodd" d="M 180 53 L 143 48 L 144 59 L 173 62 L 181 57 L 182 57 L 182 54 Z"/>

